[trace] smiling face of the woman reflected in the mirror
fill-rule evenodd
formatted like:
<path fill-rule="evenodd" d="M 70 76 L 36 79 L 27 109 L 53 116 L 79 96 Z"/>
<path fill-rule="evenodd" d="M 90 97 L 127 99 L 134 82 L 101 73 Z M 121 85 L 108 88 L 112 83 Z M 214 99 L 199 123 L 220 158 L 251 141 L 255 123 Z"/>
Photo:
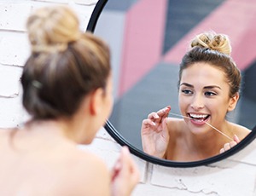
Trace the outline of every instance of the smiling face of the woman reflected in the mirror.
<path fill-rule="evenodd" d="M 185 122 L 195 134 L 211 129 L 207 124 L 221 128 L 232 98 L 224 72 L 204 62 L 183 70 L 179 86 L 179 107 Z"/>

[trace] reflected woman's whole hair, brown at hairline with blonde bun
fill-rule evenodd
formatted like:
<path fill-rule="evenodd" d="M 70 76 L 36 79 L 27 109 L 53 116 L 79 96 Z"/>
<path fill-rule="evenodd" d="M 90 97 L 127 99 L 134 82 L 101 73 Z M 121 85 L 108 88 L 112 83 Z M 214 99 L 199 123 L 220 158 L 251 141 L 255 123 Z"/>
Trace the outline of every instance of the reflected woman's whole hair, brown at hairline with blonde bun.
<path fill-rule="evenodd" d="M 241 72 L 230 53 L 230 39 L 226 35 L 215 32 L 197 35 L 191 41 L 191 49 L 183 56 L 180 64 L 179 82 L 184 69 L 197 62 L 205 62 L 224 72 L 227 83 L 230 85 L 230 97 L 233 97 L 240 89 Z"/>

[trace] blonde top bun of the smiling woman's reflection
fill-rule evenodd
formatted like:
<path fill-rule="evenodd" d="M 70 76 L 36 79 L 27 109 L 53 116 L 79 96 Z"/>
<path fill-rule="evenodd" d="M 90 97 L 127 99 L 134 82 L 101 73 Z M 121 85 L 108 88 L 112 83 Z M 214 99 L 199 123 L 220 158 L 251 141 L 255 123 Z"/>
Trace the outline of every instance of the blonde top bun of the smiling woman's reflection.
<path fill-rule="evenodd" d="M 196 36 L 191 47 L 200 46 L 202 48 L 217 50 L 225 55 L 231 54 L 230 39 L 227 35 L 217 34 L 215 32 L 204 32 Z"/>

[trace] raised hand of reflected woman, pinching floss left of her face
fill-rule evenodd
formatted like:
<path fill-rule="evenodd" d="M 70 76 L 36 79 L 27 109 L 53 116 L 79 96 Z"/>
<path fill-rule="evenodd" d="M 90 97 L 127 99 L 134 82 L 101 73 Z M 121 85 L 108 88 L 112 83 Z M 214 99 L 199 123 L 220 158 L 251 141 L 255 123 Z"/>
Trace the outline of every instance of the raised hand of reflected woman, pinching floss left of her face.
<path fill-rule="evenodd" d="M 149 155 L 163 158 L 169 142 L 169 132 L 166 128 L 166 118 L 171 107 L 165 107 L 158 112 L 151 112 L 143 120 L 141 135 L 143 151 Z"/>

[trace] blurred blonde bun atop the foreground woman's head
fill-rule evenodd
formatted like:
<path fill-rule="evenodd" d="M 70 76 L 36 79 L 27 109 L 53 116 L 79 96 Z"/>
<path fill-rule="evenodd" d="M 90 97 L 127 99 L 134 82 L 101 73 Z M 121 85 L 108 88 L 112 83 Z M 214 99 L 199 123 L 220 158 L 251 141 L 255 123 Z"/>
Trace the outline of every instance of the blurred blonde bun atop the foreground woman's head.
<path fill-rule="evenodd" d="M 81 34 L 79 19 L 65 6 L 37 9 L 28 18 L 26 28 L 35 52 L 65 50 L 67 43 L 78 40 Z"/>

